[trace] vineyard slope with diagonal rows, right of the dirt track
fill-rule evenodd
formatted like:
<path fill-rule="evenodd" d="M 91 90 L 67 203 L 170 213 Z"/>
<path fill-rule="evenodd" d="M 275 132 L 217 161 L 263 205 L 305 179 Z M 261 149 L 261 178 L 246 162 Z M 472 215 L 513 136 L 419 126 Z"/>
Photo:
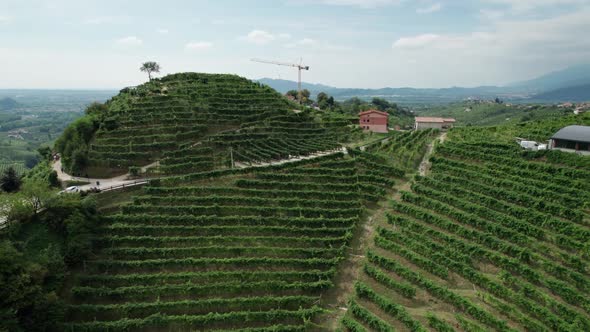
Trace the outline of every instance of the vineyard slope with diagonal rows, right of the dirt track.
<path fill-rule="evenodd" d="M 590 170 L 465 131 L 390 202 L 341 326 L 590 330 Z"/>

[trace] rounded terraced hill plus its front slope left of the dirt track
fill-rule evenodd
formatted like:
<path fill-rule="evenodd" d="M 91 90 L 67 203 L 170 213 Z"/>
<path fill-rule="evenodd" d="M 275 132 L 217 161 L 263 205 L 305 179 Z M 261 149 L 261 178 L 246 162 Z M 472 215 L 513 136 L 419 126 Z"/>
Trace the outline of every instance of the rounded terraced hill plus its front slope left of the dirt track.
<path fill-rule="evenodd" d="M 178 74 L 91 107 L 61 138 L 64 160 L 84 152 L 67 154 L 71 138 L 88 142 L 88 170 L 160 160 L 166 176 L 104 215 L 93 254 L 66 289 L 64 330 L 305 331 L 323 323 L 365 209 L 404 171 L 342 152 L 228 167 L 232 156 L 304 155 L 350 135 L 349 120 L 291 106 L 236 76 Z"/>

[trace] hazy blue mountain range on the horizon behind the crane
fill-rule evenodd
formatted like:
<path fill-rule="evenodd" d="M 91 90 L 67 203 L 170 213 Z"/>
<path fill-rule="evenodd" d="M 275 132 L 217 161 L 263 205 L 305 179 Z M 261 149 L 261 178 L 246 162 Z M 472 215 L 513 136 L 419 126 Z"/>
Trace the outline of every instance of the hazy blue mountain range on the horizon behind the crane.
<path fill-rule="evenodd" d="M 297 82 L 262 78 L 261 83 L 285 93 L 297 89 Z M 442 89 L 381 88 L 357 89 L 336 88 L 323 84 L 302 83 L 312 96 L 325 92 L 336 100 L 352 97 L 371 99 L 380 97 L 400 104 L 431 104 L 454 102 L 463 99 L 493 99 L 499 97 L 513 102 L 561 102 L 590 100 L 590 64 L 569 67 L 538 78 L 508 84 L 507 86 L 480 86 L 474 88 L 451 87 Z M 554 91 L 555 90 L 555 91 Z"/>

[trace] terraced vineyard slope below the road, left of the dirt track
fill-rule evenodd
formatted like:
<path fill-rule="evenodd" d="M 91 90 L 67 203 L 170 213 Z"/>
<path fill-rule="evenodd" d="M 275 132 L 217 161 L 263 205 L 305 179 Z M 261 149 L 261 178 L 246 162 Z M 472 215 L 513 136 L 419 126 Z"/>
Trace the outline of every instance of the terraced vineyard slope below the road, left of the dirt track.
<path fill-rule="evenodd" d="M 314 329 L 366 204 L 402 175 L 340 153 L 154 180 L 106 217 L 65 329 Z"/>

